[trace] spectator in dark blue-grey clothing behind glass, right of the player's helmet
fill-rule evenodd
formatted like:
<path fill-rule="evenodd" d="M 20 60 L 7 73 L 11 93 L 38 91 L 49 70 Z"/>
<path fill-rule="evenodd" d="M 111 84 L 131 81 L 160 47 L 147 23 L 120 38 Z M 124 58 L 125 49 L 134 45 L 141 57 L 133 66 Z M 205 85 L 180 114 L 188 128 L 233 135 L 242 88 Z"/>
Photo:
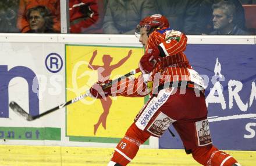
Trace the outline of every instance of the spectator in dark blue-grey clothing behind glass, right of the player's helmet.
<path fill-rule="evenodd" d="M 157 8 L 171 23 L 170 28 L 193 35 L 196 34 L 200 2 L 201 0 L 162 0 L 157 1 Z"/>

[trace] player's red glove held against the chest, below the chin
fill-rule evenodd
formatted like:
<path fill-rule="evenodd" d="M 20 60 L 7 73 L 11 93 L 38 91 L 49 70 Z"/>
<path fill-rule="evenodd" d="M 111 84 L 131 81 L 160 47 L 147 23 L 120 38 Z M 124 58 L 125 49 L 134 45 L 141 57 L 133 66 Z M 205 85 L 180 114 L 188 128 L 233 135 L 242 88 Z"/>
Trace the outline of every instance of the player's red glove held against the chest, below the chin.
<path fill-rule="evenodd" d="M 141 57 L 138 67 L 142 73 L 150 73 L 153 71 L 155 64 L 161 61 L 160 51 L 158 47 L 155 49 L 149 50 L 144 56 Z"/>

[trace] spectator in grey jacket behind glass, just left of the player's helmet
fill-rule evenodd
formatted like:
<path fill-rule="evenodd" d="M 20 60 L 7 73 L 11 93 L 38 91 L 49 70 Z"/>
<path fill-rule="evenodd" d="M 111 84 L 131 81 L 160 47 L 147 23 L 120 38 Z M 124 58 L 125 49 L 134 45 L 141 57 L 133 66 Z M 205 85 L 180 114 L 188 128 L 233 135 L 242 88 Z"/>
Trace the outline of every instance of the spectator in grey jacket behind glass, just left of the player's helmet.
<path fill-rule="evenodd" d="M 134 34 L 134 27 L 140 20 L 155 13 L 152 0 L 108 0 L 103 32 L 105 34 Z"/>

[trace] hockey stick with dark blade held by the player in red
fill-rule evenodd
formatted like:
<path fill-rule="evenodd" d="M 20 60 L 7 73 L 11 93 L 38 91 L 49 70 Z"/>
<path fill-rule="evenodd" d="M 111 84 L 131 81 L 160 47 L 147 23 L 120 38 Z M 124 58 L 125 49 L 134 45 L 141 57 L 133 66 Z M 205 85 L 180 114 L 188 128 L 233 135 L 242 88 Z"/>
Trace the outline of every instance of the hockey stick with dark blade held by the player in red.
<path fill-rule="evenodd" d="M 126 75 L 120 76 L 120 78 L 112 80 L 112 82 L 106 83 L 104 86 L 102 86 L 102 88 L 103 89 L 108 88 L 108 87 L 112 86 L 113 83 L 119 82 L 120 80 L 127 78 L 131 75 L 134 75 L 138 72 L 140 72 L 139 68 L 134 69 L 131 72 L 127 73 Z M 80 95 L 79 97 L 73 98 L 70 101 L 67 101 L 61 105 L 55 106 L 54 108 L 49 109 L 49 110 L 45 111 L 44 113 L 40 113 L 39 115 L 35 115 L 35 116 L 29 115 L 29 113 L 27 113 L 24 109 L 22 109 L 15 101 L 10 102 L 9 106 L 15 113 L 24 117 L 26 120 L 31 121 L 31 120 L 38 119 L 42 116 L 48 115 L 49 113 L 54 112 L 55 110 L 62 109 L 67 105 L 73 104 L 74 102 L 80 101 L 81 99 L 87 97 L 88 95 L 89 95 L 89 93 L 84 93 L 84 94 Z"/>

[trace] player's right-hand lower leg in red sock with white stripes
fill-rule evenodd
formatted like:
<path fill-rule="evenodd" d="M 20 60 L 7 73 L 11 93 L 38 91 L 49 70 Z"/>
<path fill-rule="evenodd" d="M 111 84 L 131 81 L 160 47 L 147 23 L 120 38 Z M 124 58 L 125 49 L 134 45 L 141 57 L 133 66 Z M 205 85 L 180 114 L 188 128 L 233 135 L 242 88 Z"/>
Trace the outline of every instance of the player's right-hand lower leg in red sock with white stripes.
<path fill-rule="evenodd" d="M 193 149 L 192 155 L 198 163 L 205 166 L 234 166 L 234 164 L 238 164 L 237 161 L 232 156 L 230 156 L 230 154 L 222 152 L 212 145 Z"/>

